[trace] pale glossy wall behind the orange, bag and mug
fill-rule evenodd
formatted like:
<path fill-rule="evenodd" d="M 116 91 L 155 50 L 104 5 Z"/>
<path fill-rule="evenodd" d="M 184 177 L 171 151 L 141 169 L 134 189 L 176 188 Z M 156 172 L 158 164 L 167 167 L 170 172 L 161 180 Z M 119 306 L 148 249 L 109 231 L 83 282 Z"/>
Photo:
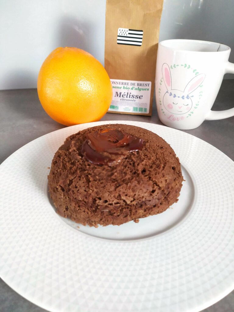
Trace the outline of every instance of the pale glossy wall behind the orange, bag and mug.
<path fill-rule="evenodd" d="M 234 62 L 233 13 L 233 0 L 164 0 L 159 39 L 222 42 Z M 105 0 L 0 0 L 0 90 L 35 88 L 58 46 L 79 47 L 103 64 L 104 44 Z"/>

